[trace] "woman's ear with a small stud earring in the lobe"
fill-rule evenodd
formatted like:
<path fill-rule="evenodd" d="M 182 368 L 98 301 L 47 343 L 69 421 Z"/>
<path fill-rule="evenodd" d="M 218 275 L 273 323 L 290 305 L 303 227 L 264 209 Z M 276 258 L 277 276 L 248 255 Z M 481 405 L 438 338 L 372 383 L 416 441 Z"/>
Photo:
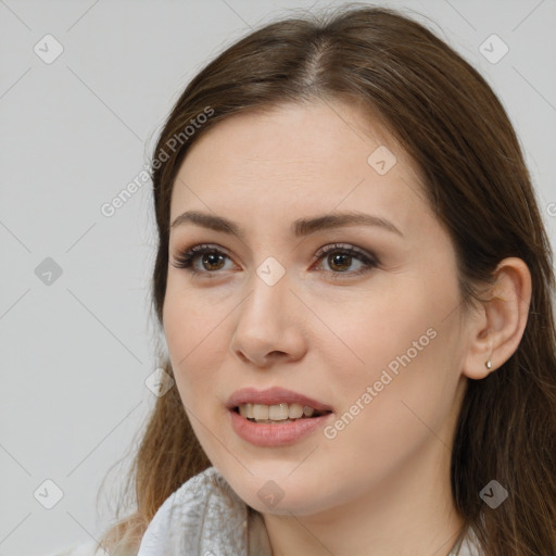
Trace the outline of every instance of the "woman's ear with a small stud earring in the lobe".
<path fill-rule="evenodd" d="M 523 336 L 531 303 L 531 273 L 521 258 L 504 258 L 494 271 L 491 296 L 469 318 L 468 351 L 463 374 L 485 378 L 516 352 Z M 492 368 L 486 367 L 491 361 Z"/>

